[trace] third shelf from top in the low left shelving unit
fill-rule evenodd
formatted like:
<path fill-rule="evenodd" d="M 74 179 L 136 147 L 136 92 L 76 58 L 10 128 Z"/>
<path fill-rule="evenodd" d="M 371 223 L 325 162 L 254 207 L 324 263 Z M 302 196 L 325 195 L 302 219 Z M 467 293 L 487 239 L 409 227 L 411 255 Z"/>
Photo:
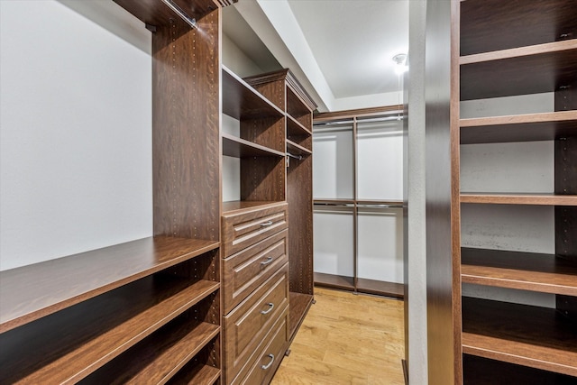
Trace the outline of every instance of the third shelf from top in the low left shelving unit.
<path fill-rule="evenodd" d="M 96 371 L 90 383 L 166 383 L 220 332 L 183 316 Z"/>

